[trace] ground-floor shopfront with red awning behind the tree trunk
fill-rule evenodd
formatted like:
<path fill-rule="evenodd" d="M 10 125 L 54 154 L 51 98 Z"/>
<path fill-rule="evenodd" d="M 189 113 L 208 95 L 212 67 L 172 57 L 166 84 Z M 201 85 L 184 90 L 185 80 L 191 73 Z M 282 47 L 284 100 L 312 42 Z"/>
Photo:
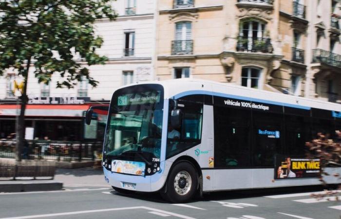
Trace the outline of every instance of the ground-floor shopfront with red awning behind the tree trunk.
<path fill-rule="evenodd" d="M 54 141 L 87 140 L 84 131 L 88 127 L 84 125 L 83 115 L 93 105 L 91 103 L 28 104 L 25 110 L 26 130 L 33 132 L 30 138 L 36 140 L 44 139 L 44 137 Z M 0 103 L 0 139 L 7 138 L 16 132 L 18 109 L 19 105 Z M 92 136 L 100 141 L 104 135 L 106 115 L 98 115 L 97 119 L 97 126 L 87 131 L 96 132 Z"/>

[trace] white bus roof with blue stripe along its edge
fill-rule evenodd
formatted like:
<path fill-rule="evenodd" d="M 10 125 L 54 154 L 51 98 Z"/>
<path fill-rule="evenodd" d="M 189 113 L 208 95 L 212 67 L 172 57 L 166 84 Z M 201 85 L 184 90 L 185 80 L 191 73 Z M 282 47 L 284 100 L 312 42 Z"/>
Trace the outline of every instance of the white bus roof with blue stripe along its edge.
<path fill-rule="evenodd" d="M 139 84 L 162 85 L 165 91 L 165 99 L 179 98 L 190 94 L 208 94 L 276 105 L 288 105 L 296 108 L 319 108 L 341 111 L 341 104 L 337 103 L 202 79 L 181 78 Z"/>

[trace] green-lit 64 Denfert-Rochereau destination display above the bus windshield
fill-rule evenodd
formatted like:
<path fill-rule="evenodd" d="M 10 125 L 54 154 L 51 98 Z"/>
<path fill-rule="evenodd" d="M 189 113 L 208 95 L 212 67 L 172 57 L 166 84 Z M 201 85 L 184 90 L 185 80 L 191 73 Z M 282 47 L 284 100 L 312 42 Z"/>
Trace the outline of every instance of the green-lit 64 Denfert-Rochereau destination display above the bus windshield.
<path fill-rule="evenodd" d="M 131 104 L 158 103 L 160 101 L 160 92 L 147 91 L 141 93 L 130 93 L 117 97 L 118 106 Z"/>

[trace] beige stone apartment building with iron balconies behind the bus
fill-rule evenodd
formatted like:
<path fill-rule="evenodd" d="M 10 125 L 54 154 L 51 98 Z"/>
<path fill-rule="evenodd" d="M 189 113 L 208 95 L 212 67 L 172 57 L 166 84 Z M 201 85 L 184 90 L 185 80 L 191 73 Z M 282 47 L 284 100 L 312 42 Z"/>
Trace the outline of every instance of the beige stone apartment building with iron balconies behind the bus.
<path fill-rule="evenodd" d="M 341 101 L 338 0 L 159 0 L 156 78 Z"/>

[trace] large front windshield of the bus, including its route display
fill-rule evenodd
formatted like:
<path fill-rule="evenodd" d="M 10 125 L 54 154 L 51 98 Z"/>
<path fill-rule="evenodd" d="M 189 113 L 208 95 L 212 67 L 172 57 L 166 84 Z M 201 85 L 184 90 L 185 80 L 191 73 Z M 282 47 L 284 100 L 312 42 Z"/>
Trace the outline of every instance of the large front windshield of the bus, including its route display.
<path fill-rule="evenodd" d="M 114 93 L 104 142 L 106 159 L 147 166 L 159 161 L 163 92 L 154 86 L 136 85 Z"/>

